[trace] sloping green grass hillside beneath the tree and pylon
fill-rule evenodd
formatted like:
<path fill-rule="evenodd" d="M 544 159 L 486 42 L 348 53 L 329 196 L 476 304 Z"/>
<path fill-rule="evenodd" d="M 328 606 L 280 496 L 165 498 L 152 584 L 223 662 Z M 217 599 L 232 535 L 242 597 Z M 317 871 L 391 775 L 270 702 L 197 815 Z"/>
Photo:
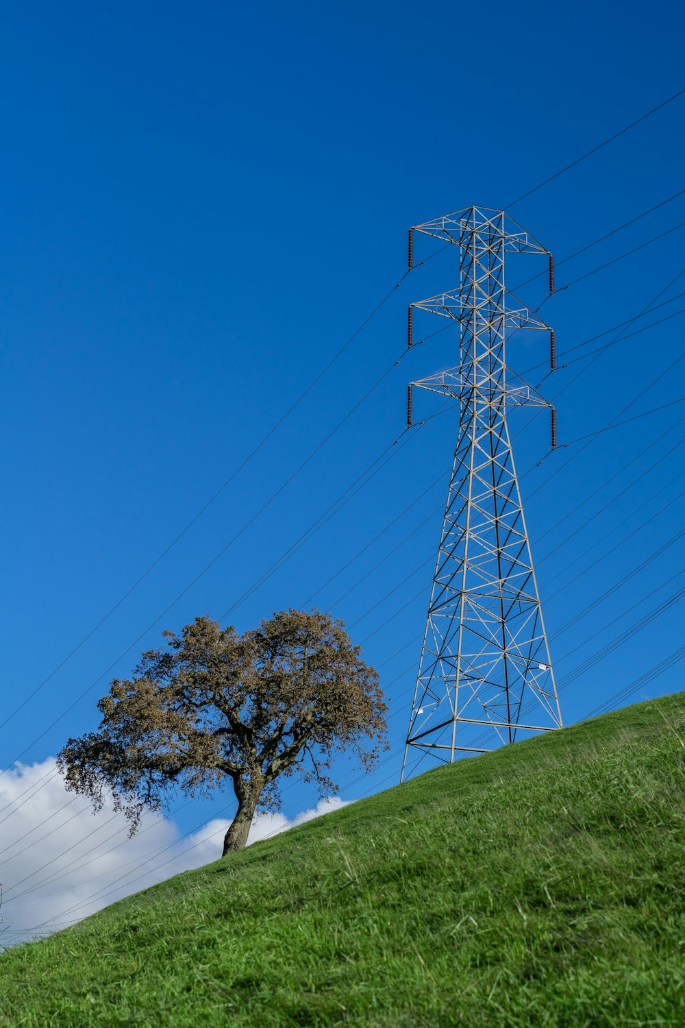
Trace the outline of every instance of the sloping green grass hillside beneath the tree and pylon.
<path fill-rule="evenodd" d="M 685 693 L 451 767 L 0 957 L 0 1025 L 685 1025 Z"/>

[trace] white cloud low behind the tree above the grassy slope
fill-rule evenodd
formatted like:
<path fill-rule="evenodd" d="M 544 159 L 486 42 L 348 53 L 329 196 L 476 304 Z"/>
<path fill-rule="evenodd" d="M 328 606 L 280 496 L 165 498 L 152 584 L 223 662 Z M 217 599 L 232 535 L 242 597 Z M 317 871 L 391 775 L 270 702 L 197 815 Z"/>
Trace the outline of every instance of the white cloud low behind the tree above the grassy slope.
<path fill-rule="evenodd" d="M 324 800 L 290 820 L 255 818 L 248 845 L 345 806 Z M 174 821 L 145 814 L 127 838 L 123 814 L 67 793 L 53 757 L 0 775 L 0 944 L 49 933 L 130 892 L 216 860 L 229 819 L 215 818 L 185 839 Z M 163 852 L 160 852 L 163 850 Z"/>

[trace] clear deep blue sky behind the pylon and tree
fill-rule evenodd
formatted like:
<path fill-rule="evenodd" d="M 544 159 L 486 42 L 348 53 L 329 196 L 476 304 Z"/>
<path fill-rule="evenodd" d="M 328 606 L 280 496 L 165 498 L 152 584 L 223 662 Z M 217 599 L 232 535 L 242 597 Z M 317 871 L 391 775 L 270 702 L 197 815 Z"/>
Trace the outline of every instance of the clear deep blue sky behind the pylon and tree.
<path fill-rule="evenodd" d="M 683 15 L 671 3 L 619 12 L 597 3 L 28 3 L 5 10 L 3 23 L 0 460 L 10 713 L 399 280 L 409 225 L 470 204 L 508 208 L 684 83 Z M 685 186 L 684 112 L 682 97 L 510 213 L 561 261 L 668 199 Z M 558 287 L 680 222 L 685 195 L 561 264 Z M 559 292 L 544 310 L 560 363 L 570 347 L 685 292 L 684 238 L 685 228 L 669 231 Z M 533 264 L 512 264 L 508 282 L 529 278 Z M 108 681 L 130 673 L 163 628 L 231 611 L 244 629 L 315 601 L 364 642 L 392 714 L 390 759 L 363 779 L 342 760 L 341 795 L 396 782 L 419 657 L 411 640 L 425 621 L 454 415 L 403 437 L 407 445 L 368 485 L 234 604 L 399 436 L 407 381 L 452 366 L 454 337 L 444 333 L 392 368 L 197 576 L 399 359 L 408 303 L 456 282 L 449 252 L 404 280 L 258 454 L 0 728 L 3 767 L 20 755 L 41 764 L 68 736 L 97 727 Z M 522 298 L 537 305 L 543 284 L 531 283 Z M 627 331 L 681 306 L 674 299 Z M 560 443 L 623 408 L 618 419 L 679 400 L 682 340 L 675 317 L 592 367 L 580 361 L 547 379 L 544 394 L 559 394 Z M 524 371 L 545 357 L 543 339 L 531 337 L 519 352 L 511 343 L 508 361 Z M 427 416 L 430 398 L 419 402 Z M 680 645 L 682 600 L 639 632 L 631 626 L 685 584 L 674 578 L 682 540 L 671 543 L 683 523 L 682 449 L 673 447 L 684 414 L 674 403 L 549 456 L 546 419 L 512 415 L 559 683 L 584 668 L 560 693 L 568 723 Z M 626 641 L 600 660 L 622 632 Z M 630 700 L 682 682 L 681 663 Z M 185 808 L 178 832 L 230 801 Z M 283 794 L 288 817 L 315 803 L 304 786 Z"/>

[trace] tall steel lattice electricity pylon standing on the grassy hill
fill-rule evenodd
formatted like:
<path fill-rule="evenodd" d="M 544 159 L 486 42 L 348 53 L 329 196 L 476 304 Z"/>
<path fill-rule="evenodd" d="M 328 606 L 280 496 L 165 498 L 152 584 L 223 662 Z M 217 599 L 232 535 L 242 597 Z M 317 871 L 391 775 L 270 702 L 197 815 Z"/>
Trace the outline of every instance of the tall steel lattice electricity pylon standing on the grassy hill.
<path fill-rule="evenodd" d="M 409 308 L 453 319 L 459 326 L 459 365 L 412 382 L 459 401 L 459 429 L 447 497 L 430 605 L 410 717 L 409 747 L 444 762 L 513 742 L 531 732 L 561 728 L 562 718 L 526 531 L 507 406 L 554 408 L 506 366 L 507 331 L 554 332 L 504 288 L 504 255 L 551 254 L 503 211 L 470 207 L 416 225 L 454 244 L 457 291 Z"/>

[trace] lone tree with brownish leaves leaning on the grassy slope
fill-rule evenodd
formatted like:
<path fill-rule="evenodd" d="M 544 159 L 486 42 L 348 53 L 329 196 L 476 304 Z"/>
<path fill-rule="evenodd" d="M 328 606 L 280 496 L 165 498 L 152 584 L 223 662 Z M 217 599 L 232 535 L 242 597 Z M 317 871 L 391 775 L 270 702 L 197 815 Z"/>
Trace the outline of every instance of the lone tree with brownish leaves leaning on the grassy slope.
<path fill-rule="evenodd" d="M 204 617 L 163 634 L 130 681 L 110 684 L 99 731 L 58 757 L 67 788 L 94 810 L 111 795 L 131 836 L 144 809 L 164 809 L 179 790 L 208 797 L 228 777 L 238 807 L 225 856 L 245 845 L 258 807 L 278 804 L 279 778 L 299 772 L 330 795 L 336 751 L 351 748 L 366 768 L 378 759 L 378 675 L 330 614 L 281 611 L 242 635 Z"/>

